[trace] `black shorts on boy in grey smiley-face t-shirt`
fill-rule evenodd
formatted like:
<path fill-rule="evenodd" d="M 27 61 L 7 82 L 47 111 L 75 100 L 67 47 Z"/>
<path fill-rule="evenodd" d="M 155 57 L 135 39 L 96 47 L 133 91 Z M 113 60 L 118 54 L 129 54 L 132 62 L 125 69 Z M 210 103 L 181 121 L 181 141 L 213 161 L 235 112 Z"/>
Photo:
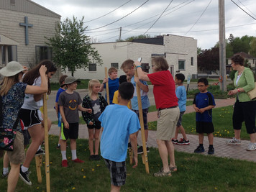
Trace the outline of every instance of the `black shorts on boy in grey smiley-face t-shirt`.
<path fill-rule="evenodd" d="M 60 140 L 68 140 L 68 139 L 74 139 L 76 140 L 78 138 L 78 128 L 79 123 L 68 123 L 69 129 L 66 129 L 64 127 L 64 123 L 61 123 L 60 127 Z"/>

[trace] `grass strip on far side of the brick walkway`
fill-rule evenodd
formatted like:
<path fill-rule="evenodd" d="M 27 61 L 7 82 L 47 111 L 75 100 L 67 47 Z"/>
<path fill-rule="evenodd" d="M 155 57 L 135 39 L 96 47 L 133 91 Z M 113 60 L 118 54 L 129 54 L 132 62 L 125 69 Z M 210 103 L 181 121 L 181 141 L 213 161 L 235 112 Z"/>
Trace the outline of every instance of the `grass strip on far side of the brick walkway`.
<path fill-rule="evenodd" d="M 234 137 L 234 131 L 232 127 L 232 106 L 224 106 L 221 108 L 213 109 L 213 123 L 214 123 L 214 137 L 231 138 Z M 196 133 L 196 112 L 184 114 L 182 118 L 182 125 L 187 134 Z M 149 129 L 156 130 L 157 122 L 149 122 Z M 241 130 L 241 139 L 249 140 L 250 136 L 247 134 L 244 124 Z"/>

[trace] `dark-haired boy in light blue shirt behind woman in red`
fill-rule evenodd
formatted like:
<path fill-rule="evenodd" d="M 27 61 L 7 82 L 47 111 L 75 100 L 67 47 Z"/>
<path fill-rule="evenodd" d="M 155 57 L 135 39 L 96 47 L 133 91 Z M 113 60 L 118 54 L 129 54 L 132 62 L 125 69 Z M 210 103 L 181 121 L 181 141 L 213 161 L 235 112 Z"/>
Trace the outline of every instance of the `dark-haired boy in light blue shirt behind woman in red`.
<path fill-rule="evenodd" d="M 178 119 L 175 135 L 172 139 L 172 142 L 177 145 L 189 145 L 190 142 L 186 136 L 185 129 L 183 128 L 181 122 L 182 122 L 182 116 L 186 111 L 186 102 L 187 102 L 187 94 L 186 94 L 186 88 L 183 86 L 183 81 L 185 80 L 185 76 L 182 73 L 177 73 L 175 75 L 175 84 L 178 85 L 178 87 L 175 90 L 176 96 L 178 98 L 178 107 L 180 108 L 180 117 Z M 180 130 L 180 133 L 182 134 L 183 138 L 180 138 L 180 140 L 177 140 L 178 137 L 178 131 Z"/>

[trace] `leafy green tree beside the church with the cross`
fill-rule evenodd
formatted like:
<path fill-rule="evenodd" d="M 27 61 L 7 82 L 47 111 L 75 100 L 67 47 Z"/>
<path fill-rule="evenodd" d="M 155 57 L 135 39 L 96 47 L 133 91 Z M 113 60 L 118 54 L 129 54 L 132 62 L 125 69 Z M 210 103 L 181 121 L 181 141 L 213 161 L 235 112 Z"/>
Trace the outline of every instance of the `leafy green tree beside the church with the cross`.
<path fill-rule="evenodd" d="M 91 47 L 90 37 L 85 34 L 83 19 L 67 18 L 57 25 L 55 37 L 45 37 L 47 45 L 52 47 L 53 62 L 62 70 L 68 68 L 72 76 L 76 69 L 86 70 L 89 63 L 102 64 L 99 53 Z"/>

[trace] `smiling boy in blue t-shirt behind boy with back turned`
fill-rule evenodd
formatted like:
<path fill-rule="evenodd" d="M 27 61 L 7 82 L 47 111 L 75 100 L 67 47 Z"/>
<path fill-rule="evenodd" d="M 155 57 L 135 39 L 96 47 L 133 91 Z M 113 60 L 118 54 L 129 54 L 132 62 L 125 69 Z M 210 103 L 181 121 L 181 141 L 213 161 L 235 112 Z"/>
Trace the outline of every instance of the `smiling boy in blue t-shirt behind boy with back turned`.
<path fill-rule="evenodd" d="M 117 69 L 109 68 L 108 70 L 109 78 L 104 78 L 101 83 L 99 92 L 103 91 L 106 88 L 106 82 L 109 83 L 109 104 L 113 104 L 114 92 L 119 88 L 119 78 L 117 78 Z"/>

